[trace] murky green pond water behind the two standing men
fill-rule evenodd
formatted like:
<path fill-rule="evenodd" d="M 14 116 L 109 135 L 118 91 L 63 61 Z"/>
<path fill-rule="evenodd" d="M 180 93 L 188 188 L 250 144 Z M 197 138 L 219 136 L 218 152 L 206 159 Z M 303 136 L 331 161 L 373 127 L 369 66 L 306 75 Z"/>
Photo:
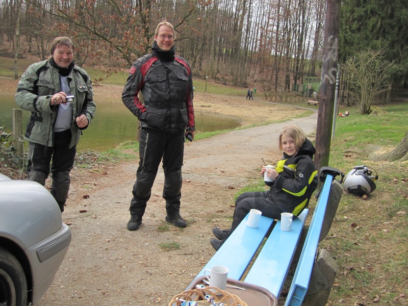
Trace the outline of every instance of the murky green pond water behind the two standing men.
<path fill-rule="evenodd" d="M 14 96 L 0 95 L 0 126 L 12 130 L 12 111 L 17 109 Z M 30 112 L 23 111 L 23 133 Z M 196 131 L 213 132 L 234 129 L 240 121 L 234 117 L 195 112 Z M 96 106 L 96 115 L 91 125 L 83 132 L 78 150 L 103 151 L 115 148 L 120 143 L 135 140 L 138 122 L 123 104 L 103 104 Z"/>

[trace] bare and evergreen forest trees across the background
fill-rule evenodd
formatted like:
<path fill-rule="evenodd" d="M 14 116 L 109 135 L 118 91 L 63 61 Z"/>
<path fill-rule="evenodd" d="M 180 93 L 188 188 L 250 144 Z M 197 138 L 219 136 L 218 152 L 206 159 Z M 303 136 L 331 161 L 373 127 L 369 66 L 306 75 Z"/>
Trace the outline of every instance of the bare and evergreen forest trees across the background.
<path fill-rule="evenodd" d="M 383 50 L 394 64 L 380 97 L 389 103 L 408 78 L 404 0 L 0 0 L 0 55 L 44 60 L 50 42 L 67 35 L 77 45 L 77 65 L 104 69 L 97 84 L 148 53 L 157 23 L 167 19 L 195 78 L 268 93 L 285 89 L 289 74 L 290 90 L 310 84 L 318 91 L 326 18 L 334 16 L 326 14 L 329 2 L 341 3 L 340 35 L 332 42 L 340 68 L 356 52 Z M 352 103 L 348 79 L 344 73 L 340 95 Z"/>

